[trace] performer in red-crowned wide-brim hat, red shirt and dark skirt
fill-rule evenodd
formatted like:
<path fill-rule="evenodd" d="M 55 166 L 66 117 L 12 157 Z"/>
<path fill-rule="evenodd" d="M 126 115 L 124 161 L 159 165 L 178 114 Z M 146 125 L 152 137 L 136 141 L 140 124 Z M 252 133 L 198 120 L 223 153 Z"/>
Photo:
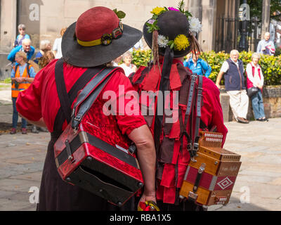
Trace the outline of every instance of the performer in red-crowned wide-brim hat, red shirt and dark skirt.
<path fill-rule="evenodd" d="M 89 82 L 98 77 L 101 79 L 100 73 L 110 69 L 109 63 L 128 51 L 141 37 L 141 31 L 122 24 L 118 14 L 110 8 L 90 8 L 65 31 L 62 39 L 63 58 L 48 63 L 37 73 L 30 88 L 20 93 L 16 103 L 20 115 L 32 124 L 47 127 L 51 132 L 37 210 L 119 210 L 104 198 L 65 182 L 58 173 L 54 145 L 67 124 L 70 124 L 72 115 L 75 115 L 72 111 L 73 105 L 77 103 L 77 94 L 84 93 L 84 87 Z M 112 73 L 108 76 L 110 79 L 106 80 L 96 101 L 85 115 L 88 118 L 86 124 L 100 132 L 106 132 L 103 139 L 108 142 L 117 134 L 122 134 L 121 139 L 126 136 L 126 139 L 136 145 L 139 167 L 143 174 L 142 199 L 155 201 L 155 146 L 152 134 L 139 109 L 135 109 L 133 113 L 131 110 L 124 110 L 126 105 L 129 108 L 131 105 L 138 105 L 136 99 L 124 99 L 126 94 L 133 91 L 124 70 L 112 68 Z M 112 108 L 114 112 L 107 115 L 103 106 L 108 101 L 104 95 L 108 93 L 116 94 L 112 101 L 121 105 L 121 108 Z M 105 148 L 107 146 L 108 144 Z M 124 153 L 123 150 L 120 153 Z M 135 210 L 132 201 L 133 198 L 128 200 L 121 210 Z"/>

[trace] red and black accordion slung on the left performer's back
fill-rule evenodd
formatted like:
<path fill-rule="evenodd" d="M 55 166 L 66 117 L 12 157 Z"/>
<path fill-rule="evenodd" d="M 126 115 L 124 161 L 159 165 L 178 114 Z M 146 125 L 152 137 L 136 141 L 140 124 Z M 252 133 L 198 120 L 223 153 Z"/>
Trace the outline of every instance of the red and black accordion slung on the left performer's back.
<path fill-rule="evenodd" d="M 75 134 L 68 125 L 55 142 L 55 164 L 63 181 L 121 207 L 143 187 L 143 176 L 135 146 L 111 132 L 105 136 L 82 120 Z"/>

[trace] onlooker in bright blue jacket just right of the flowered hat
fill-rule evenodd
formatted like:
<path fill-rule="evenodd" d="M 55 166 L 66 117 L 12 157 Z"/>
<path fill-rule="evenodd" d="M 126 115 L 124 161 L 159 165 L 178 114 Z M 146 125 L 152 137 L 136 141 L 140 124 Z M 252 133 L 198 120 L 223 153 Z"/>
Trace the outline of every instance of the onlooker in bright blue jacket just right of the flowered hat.
<path fill-rule="evenodd" d="M 197 75 L 209 77 L 211 74 L 211 66 L 209 66 L 206 61 L 202 60 L 202 58 L 198 58 L 198 56 L 198 53 L 192 53 L 192 58 L 190 58 L 188 61 L 184 61 L 183 65 Z"/>

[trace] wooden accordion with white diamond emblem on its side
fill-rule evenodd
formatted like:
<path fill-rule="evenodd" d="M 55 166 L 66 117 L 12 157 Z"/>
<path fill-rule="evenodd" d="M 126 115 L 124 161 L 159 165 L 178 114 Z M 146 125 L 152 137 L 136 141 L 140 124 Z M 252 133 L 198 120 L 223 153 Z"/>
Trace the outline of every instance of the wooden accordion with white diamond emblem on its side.
<path fill-rule="evenodd" d="M 226 205 L 240 169 L 241 155 L 221 148 L 223 135 L 200 131 L 195 162 L 185 172 L 180 198 L 198 205 Z"/>

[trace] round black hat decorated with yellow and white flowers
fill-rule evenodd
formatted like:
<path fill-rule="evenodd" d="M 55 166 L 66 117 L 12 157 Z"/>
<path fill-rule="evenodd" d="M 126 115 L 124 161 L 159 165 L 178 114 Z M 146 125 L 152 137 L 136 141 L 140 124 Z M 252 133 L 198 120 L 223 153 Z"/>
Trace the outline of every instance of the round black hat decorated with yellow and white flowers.
<path fill-rule="evenodd" d="M 148 23 L 148 21 L 146 23 Z M 146 23 L 143 25 L 143 37 L 151 49 L 152 32 L 148 32 L 148 25 L 146 25 Z M 188 37 L 189 43 L 191 43 L 188 18 L 179 11 L 166 11 L 159 15 L 157 18 L 157 26 L 159 27 L 158 34 L 168 37 L 169 40 L 174 40 L 178 34 L 184 34 Z M 159 55 L 164 56 L 165 49 L 166 48 L 159 47 Z M 174 49 L 174 57 L 186 56 L 190 51 L 190 46 L 181 51 Z"/>

